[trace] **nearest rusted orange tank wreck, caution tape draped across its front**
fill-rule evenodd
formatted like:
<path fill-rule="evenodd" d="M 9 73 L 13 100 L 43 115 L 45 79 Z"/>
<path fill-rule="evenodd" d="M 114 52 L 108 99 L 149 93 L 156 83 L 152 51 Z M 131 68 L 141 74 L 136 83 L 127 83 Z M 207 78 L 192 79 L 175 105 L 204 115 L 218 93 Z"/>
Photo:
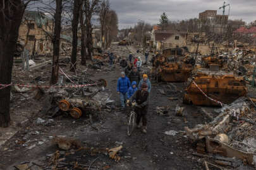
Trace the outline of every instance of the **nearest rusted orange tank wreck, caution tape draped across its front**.
<path fill-rule="evenodd" d="M 185 104 L 220 106 L 216 101 L 229 104 L 247 94 L 247 87 L 243 77 L 235 77 L 233 75 L 206 76 L 201 74 L 195 77 L 193 81 L 186 88 L 186 93 L 183 97 L 183 103 Z M 216 101 L 207 98 L 200 89 Z"/>

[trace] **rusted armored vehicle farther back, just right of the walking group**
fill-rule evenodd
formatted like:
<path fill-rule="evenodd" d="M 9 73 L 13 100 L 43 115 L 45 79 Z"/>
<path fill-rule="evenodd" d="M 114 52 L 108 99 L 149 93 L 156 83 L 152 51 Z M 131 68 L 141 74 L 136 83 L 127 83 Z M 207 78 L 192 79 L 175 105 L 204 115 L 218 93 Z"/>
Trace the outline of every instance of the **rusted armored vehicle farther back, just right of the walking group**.
<path fill-rule="evenodd" d="M 181 48 L 163 50 L 154 60 L 153 69 L 157 81 L 185 82 L 190 77 L 193 65 L 188 62 Z"/>

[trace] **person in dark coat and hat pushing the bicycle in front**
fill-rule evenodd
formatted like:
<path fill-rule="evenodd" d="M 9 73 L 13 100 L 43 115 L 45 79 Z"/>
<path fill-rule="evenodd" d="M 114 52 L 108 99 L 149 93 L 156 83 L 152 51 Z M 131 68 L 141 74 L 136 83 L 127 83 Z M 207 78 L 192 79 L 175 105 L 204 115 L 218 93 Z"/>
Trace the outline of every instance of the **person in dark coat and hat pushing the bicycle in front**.
<path fill-rule="evenodd" d="M 147 91 L 147 83 L 143 82 L 142 89 L 137 90 L 130 101 L 136 101 L 135 113 L 137 113 L 137 128 L 140 128 L 140 120 L 142 119 L 142 132 L 147 133 L 147 109 L 149 106 L 149 92 Z"/>

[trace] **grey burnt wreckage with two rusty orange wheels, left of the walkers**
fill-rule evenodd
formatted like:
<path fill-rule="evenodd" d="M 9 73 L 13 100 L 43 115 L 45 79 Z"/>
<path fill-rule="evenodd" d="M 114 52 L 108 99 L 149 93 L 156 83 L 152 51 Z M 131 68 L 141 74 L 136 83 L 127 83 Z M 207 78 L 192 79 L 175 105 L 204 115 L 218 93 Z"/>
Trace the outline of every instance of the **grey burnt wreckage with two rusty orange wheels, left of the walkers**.
<path fill-rule="evenodd" d="M 114 104 L 114 101 L 109 99 L 111 91 L 105 89 L 107 82 L 104 79 L 92 81 L 86 77 L 77 76 L 76 79 L 75 77 L 70 77 L 70 80 L 78 86 L 79 84 L 81 86 L 82 84 L 91 84 L 91 86 L 74 89 L 50 88 L 46 91 L 46 94 L 53 96 L 52 100 L 55 102 L 52 105 L 58 106 L 65 113 L 70 112 L 73 118 L 80 118 L 83 114 L 88 115 Z"/>

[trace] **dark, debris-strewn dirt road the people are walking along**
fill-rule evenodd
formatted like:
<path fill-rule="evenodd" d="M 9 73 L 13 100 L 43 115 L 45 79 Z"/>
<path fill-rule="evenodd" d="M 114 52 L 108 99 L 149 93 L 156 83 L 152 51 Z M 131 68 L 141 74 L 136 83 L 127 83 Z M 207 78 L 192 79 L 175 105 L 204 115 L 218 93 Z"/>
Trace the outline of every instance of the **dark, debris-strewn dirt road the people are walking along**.
<path fill-rule="evenodd" d="M 116 47 L 114 52 L 121 56 L 128 56 L 126 47 Z M 119 104 L 119 97 L 116 93 L 116 83 L 120 74 L 116 66 L 111 72 L 97 72 L 93 79 L 104 78 L 108 82 L 107 88 L 113 91 L 112 99 Z M 170 88 L 171 87 L 171 88 Z M 162 89 L 164 93 L 160 93 Z M 66 135 L 75 137 L 82 141 L 86 147 L 111 148 L 116 145 L 123 145 L 120 154 L 121 161 L 114 162 L 105 154 L 89 154 L 85 150 L 71 152 L 65 156 L 66 162 L 80 162 L 80 164 L 91 164 L 94 162 L 95 169 L 202 169 L 198 157 L 193 157 L 192 144 L 185 135 L 184 127 L 194 127 L 198 123 L 207 122 L 207 118 L 199 112 L 197 106 L 185 106 L 187 121 L 174 113 L 175 106 L 182 104 L 183 84 L 182 83 L 159 83 L 152 81 L 152 94 L 148 113 L 147 134 L 135 130 L 131 137 L 126 135 L 127 115 L 125 111 L 112 111 L 94 113 L 93 123 L 90 123 L 87 116 L 79 120 L 73 120 L 70 116 L 58 116 L 54 118 L 51 126 L 35 125 L 28 123 L 7 142 L 0 153 L 0 169 L 14 169 L 13 166 L 21 162 L 37 162 L 42 164 L 42 169 L 47 169 L 46 162 L 49 161 L 47 154 L 58 150 L 56 145 L 51 144 L 54 135 Z M 168 98 L 178 98 L 170 101 Z M 171 110 L 167 115 L 161 116 L 155 112 L 157 106 L 170 106 Z M 35 122 L 37 116 L 31 118 Z M 49 120 L 46 116 L 45 120 Z M 166 135 L 164 132 L 174 130 L 176 135 Z M 23 146 L 20 141 L 30 140 Z M 30 148 L 30 146 L 35 145 Z M 45 164 L 44 164 L 45 163 Z M 70 167 L 70 169 L 73 169 Z"/>

